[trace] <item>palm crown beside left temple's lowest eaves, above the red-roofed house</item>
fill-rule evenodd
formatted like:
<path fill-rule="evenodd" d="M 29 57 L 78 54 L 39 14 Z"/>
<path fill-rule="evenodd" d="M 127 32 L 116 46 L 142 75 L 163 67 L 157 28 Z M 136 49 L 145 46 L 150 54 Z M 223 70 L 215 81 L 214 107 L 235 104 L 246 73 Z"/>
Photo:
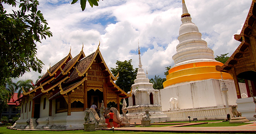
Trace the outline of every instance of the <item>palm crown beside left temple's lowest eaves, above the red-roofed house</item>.
<path fill-rule="evenodd" d="M 30 79 L 27 80 L 20 80 L 18 81 L 16 90 L 18 91 L 18 98 L 21 96 L 22 90 L 25 90 L 25 92 L 28 92 L 30 88 L 34 88 L 31 84 Z"/>

